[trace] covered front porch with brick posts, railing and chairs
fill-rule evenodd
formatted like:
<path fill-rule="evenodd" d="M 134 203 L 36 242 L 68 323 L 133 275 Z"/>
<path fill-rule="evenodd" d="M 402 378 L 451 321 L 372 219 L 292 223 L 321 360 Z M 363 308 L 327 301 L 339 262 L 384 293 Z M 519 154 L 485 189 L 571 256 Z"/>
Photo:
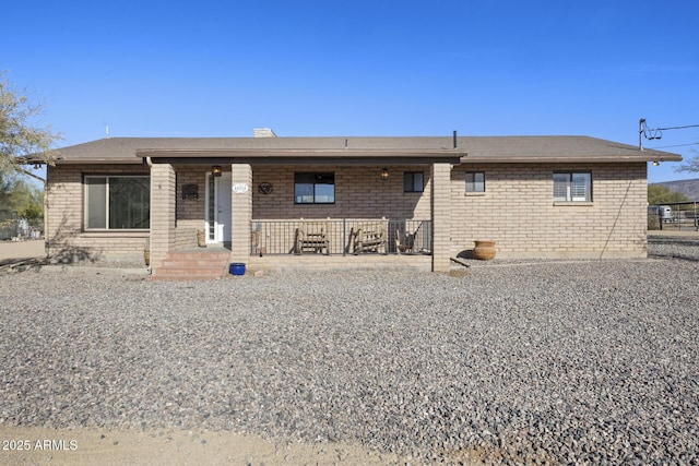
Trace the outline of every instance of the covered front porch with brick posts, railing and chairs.
<path fill-rule="evenodd" d="M 229 262 L 250 268 L 449 270 L 450 175 L 464 153 L 144 150 L 138 155 L 151 170 L 154 275 L 168 252 L 191 249 L 202 232 L 209 247 L 225 247 Z"/>

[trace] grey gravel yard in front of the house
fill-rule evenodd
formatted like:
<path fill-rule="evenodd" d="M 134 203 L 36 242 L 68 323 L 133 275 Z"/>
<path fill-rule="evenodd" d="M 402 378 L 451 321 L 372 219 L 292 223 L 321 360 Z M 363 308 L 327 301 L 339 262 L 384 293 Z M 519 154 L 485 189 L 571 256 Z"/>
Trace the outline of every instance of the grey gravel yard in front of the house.
<path fill-rule="evenodd" d="M 699 240 L 463 276 L 0 276 L 0 422 L 358 442 L 449 464 L 699 464 Z M 502 265 L 502 266 L 498 266 Z"/>

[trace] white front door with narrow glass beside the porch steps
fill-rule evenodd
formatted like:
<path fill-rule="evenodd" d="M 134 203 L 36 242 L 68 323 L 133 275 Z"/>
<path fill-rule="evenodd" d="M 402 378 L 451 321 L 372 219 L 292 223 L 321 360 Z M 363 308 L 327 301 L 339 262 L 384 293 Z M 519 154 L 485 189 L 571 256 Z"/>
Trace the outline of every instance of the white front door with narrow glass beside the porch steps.
<path fill-rule="evenodd" d="M 230 242 L 230 171 L 206 174 L 206 242 Z"/>

